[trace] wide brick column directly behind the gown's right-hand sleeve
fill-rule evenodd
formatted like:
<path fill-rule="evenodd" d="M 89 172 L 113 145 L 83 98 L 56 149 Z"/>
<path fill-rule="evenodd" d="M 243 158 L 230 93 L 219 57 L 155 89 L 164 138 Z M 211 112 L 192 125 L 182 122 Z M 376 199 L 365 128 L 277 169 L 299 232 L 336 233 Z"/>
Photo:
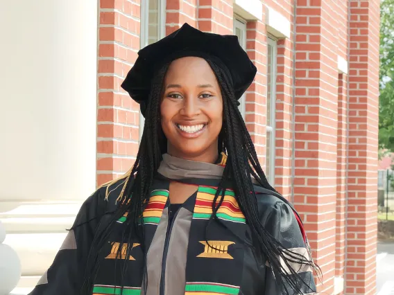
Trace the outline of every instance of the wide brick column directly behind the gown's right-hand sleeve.
<path fill-rule="evenodd" d="M 297 1 L 295 64 L 295 207 L 302 213 L 320 292 L 332 294 L 335 275 L 338 70 L 332 0 Z M 317 282 L 318 283 L 318 282 Z"/>

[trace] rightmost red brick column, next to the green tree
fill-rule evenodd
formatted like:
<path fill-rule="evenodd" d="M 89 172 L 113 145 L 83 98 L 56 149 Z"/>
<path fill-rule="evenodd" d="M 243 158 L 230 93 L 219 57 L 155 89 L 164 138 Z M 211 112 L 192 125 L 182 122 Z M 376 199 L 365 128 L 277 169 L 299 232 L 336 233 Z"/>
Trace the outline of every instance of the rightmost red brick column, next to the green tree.
<path fill-rule="evenodd" d="M 347 295 L 376 292 L 379 3 L 350 0 Z"/>

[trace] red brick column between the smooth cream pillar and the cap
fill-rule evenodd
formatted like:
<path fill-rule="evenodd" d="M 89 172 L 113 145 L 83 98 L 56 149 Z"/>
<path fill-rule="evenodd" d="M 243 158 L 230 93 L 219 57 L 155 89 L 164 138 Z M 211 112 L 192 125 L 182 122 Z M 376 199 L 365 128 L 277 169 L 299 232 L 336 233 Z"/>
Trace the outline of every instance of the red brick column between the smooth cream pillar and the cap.
<path fill-rule="evenodd" d="M 139 50 L 140 0 L 101 0 L 97 185 L 123 175 L 138 150 L 139 107 L 120 85 Z"/>

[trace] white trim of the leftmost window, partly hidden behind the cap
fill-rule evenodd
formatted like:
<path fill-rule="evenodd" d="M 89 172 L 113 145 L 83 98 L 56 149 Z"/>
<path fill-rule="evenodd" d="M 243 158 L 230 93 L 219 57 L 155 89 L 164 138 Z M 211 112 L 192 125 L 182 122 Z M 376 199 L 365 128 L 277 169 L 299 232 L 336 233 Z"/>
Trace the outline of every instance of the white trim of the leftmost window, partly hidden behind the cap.
<path fill-rule="evenodd" d="M 141 35 L 139 36 L 139 48 L 148 45 L 148 26 L 149 26 L 149 0 L 141 1 Z M 166 0 L 159 0 L 159 39 L 166 36 Z M 144 132 L 145 118 L 139 111 L 139 142 L 141 142 Z"/>

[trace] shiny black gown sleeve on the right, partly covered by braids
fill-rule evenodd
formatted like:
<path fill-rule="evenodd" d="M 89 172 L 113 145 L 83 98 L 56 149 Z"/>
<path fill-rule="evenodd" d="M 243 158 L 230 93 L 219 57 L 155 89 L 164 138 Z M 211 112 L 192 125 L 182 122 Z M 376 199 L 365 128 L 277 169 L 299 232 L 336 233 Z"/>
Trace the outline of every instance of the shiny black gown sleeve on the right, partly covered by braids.
<path fill-rule="evenodd" d="M 272 198 L 275 198 L 276 201 Z M 304 237 L 305 233 L 302 233 L 302 224 L 298 222 L 293 209 L 288 204 L 282 200 L 278 200 L 274 196 L 267 196 L 267 203 L 268 204 L 264 206 L 265 210 L 262 214 L 262 222 L 266 229 L 282 244 L 285 249 L 300 253 L 301 255 L 309 258 L 307 242 L 305 242 Z M 267 263 L 267 265 L 269 264 Z M 298 283 L 298 286 L 302 290 L 302 294 L 317 294 L 311 267 L 295 263 L 290 263 L 290 265 L 298 272 L 302 280 L 307 283 L 307 285 L 302 282 Z M 284 291 L 285 289 L 289 294 L 295 294 L 289 285 L 277 285 L 273 272 L 271 271 L 271 267 L 267 266 L 264 294 L 282 295 L 286 294 Z"/>

